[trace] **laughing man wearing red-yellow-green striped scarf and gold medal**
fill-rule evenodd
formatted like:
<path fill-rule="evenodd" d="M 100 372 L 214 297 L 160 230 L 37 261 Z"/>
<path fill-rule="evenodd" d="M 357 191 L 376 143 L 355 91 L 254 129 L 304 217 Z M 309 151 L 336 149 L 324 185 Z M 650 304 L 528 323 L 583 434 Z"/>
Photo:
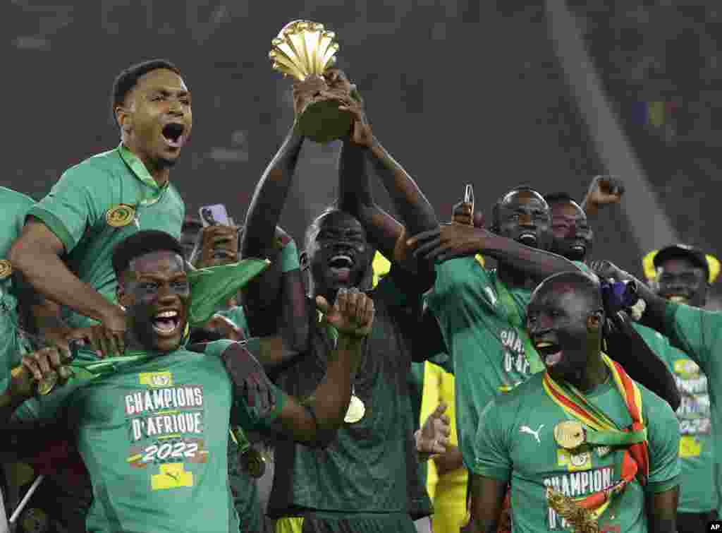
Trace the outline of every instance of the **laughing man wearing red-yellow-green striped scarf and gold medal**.
<path fill-rule="evenodd" d="M 534 291 L 526 327 L 545 371 L 484 409 L 472 532 L 495 531 L 509 481 L 515 532 L 677 531 L 677 419 L 601 351 L 603 324 L 586 274 Z"/>

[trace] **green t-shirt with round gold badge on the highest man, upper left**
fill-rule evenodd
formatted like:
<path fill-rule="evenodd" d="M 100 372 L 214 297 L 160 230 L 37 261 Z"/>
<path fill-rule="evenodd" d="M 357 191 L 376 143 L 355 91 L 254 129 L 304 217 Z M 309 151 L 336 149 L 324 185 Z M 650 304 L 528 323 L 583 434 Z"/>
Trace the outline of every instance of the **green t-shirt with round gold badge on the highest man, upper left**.
<path fill-rule="evenodd" d="M 113 227 L 105 217 L 118 205 L 132 205 L 136 220 Z M 63 243 L 66 264 L 81 281 L 116 299 L 113 248 L 141 229 L 181 236 L 185 205 L 173 184 L 158 187 L 134 154 L 123 147 L 93 155 L 66 170 L 50 194 L 29 215 L 39 218 Z M 90 325 L 90 318 L 73 314 L 69 325 Z"/>

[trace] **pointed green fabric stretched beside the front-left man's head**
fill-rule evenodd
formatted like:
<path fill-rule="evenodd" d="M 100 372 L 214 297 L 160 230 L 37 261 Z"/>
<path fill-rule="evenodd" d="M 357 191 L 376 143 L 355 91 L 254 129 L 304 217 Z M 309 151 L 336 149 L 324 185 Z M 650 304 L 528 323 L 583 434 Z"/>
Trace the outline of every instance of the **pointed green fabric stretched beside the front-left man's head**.
<path fill-rule="evenodd" d="M 188 272 L 188 282 L 191 284 L 188 323 L 191 328 L 208 322 L 230 297 L 270 264 L 266 259 L 243 259 L 230 265 L 199 268 Z"/>

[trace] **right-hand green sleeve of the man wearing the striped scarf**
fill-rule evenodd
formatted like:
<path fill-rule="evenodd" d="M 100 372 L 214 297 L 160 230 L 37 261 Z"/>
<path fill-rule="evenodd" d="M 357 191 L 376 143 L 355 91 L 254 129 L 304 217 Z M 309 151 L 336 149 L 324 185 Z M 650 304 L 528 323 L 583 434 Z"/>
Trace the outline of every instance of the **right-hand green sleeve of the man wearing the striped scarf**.
<path fill-rule="evenodd" d="M 679 422 L 666 401 L 653 393 L 645 396 L 643 410 L 649 446 L 649 477 L 645 490 L 664 493 L 679 485 Z"/>

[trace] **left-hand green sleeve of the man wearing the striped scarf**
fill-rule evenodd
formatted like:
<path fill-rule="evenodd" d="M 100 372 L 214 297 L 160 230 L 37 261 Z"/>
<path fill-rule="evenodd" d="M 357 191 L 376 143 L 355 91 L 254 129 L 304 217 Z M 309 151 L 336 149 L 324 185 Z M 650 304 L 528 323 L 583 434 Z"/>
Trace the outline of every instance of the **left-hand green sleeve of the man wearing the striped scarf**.
<path fill-rule="evenodd" d="M 505 439 L 502 414 L 496 401 L 490 401 L 479 419 L 474 443 L 474 464 L 464 461 L 474 474 L 507 482 L 511 477 L 511 459 Z"/>

